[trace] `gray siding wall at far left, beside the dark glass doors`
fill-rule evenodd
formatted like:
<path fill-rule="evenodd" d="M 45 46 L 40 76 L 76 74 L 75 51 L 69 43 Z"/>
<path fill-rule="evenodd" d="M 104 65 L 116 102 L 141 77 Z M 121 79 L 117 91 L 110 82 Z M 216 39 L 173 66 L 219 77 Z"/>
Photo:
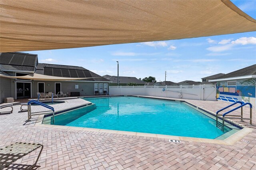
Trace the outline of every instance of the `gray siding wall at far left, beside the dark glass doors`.
<path fill-rule="evenodd" d="M 13 79 L 9 79 L 6 77 L 0 77 L 0 103 L 3 103 L 3 99 L 6 97 L 12 97 L 12 81 Z"/>

